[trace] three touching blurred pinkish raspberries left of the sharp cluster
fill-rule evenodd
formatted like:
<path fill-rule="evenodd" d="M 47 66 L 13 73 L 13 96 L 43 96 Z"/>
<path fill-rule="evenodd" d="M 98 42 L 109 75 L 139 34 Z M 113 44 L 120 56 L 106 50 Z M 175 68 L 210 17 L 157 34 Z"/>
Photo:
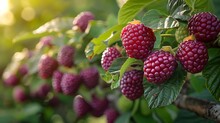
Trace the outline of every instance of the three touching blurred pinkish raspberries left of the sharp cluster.
<path fill-rule="evenodd" d="M 99 84 L 99 72 L 96 67 L 82 70 L 80 74 L 63 73 L 56 70 L 52 77 L 52 87 L 58 93 L 74 95 L 81 84 L 93 89 Z"/>

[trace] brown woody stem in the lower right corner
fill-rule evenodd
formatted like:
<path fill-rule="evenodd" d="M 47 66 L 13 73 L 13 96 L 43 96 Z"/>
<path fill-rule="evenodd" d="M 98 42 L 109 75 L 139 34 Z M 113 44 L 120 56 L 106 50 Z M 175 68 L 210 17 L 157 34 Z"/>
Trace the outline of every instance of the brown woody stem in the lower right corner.
<path fill-rule="evenodd" d="M 179 108 L 195 112 L 204 118 L 220 122 L 220 104 L 180 94 L 174 102 Z"/>

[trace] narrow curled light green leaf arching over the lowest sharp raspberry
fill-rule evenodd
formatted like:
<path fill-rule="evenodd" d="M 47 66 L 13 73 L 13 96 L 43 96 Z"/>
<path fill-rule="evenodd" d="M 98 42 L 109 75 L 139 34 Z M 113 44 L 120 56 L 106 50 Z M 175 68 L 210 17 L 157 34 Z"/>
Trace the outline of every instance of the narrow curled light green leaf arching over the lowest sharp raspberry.
<path fill-rule="evenodd" d="M 121 80 L 121 78 L 124 75 L 124 73 L 126 72 L 127 68 L 130 67 L 133 64 L 143 65 L 143 61 L 135 59 L 135 58 L 128 58 L 124 62 L 124 64 L 121 66 L 119 80 Z"/>

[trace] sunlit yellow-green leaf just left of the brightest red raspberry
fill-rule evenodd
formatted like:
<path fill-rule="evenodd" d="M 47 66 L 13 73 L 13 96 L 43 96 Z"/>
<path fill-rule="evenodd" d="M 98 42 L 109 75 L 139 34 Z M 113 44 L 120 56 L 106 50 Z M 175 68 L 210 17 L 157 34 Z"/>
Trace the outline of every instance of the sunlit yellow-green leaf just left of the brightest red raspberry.
<path fill-rule="evenodd" d="M 98 38 L 93 38 L 85 49 L 86 57 L 92 59 L 95 55 L 102 53 L 107 46 L 112 45 L 118 39 L 120 35 L 117 32 L 121 32 L 121 29 L 125 25 L 116 25 L 102 33 Z M 117 36 L 115 36 L 117 34 Z M 110 40 L 110 42 L 108 42 Z"/>

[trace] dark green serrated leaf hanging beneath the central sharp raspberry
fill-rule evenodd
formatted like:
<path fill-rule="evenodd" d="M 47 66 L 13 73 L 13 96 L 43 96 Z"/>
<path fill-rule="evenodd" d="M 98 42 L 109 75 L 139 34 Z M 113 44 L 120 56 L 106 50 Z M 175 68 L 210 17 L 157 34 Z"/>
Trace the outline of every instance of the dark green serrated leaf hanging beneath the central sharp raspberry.
<path fill-rule="evenodd" d="M 179 95 L 186 72 L 178 65 L 169 80 L 161 85 L 150 84 L 145 88 L 144 97 L 150 108 L 170 105 Z"/>

